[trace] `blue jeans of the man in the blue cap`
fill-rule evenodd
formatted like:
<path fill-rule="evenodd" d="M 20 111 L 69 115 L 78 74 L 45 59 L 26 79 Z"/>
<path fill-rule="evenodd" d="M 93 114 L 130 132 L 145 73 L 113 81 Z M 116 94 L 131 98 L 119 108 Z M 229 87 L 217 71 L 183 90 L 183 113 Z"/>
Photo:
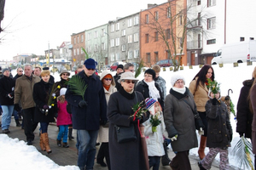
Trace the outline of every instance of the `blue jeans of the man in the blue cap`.
<path fill-rule="evenodd" d="M 93 169 L 96 155 L 96 139 L 98 130 L 77 130 L 79 136 L 79 160 L 80 169 Z"/>

